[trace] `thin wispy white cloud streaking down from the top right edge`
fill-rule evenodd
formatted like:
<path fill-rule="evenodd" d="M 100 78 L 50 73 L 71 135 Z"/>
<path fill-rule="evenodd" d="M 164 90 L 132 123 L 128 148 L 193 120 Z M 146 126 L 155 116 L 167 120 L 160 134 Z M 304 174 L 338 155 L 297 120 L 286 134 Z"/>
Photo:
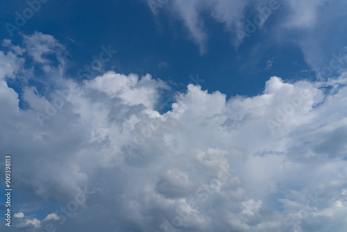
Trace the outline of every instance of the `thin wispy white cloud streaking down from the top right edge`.
<path fill-rule="evenodd" d="M 149 6 L 153 1 L 148 1 Z M 332 77 L 347 64 L 344 62 L 332 70 L 335 73 L 325 74 L 322 70 L 333 58 L 332 53 L 345 48 L 346 35 L 341 34 L 346 31 L 345 1 L 172 0 L 157 5 L 155 12 L 165 8 L 183 22 L 201 55 L 208 52 L 208 40 L 213 36 L 205 25 L 212 19 L 223 24 L 236 48 L 246 46 L 244 42 L 254 36 L 253 33 L 266 35 L 264 42 L 296 44 L 319 77 Z"/>

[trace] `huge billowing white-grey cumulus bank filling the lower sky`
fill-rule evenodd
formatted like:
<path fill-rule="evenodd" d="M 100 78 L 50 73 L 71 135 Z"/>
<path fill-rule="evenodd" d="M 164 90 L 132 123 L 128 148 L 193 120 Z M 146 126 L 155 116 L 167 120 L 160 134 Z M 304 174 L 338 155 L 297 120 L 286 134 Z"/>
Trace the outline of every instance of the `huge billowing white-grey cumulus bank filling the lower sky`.
<path fill-rule="evenodd" d="M 346 230 L 346 73 L 269 76 L 262 94 L 229 99 L 190 84 L 160 114 L 169 85 L 149 74 L 77 83 L 51 35 L 4 43 L 0 147 L 15 166 L 13 231 Z M 32 68 L 61 71 L 44 82 L 53 92 L 9 87 L 33 78 Z M 58 90 L 69 97 L 41 125 L 37 113 Z"/>

